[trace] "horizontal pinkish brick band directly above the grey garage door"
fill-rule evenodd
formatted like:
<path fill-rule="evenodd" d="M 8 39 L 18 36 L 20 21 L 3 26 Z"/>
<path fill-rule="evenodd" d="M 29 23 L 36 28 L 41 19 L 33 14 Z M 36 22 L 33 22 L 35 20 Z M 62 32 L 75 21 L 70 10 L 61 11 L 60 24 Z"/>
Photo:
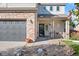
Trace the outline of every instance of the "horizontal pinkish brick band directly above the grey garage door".
<path fill-rule="evenodd" d="M 0 13 L 0 19 L 27 19 L 34 13 Z"/>

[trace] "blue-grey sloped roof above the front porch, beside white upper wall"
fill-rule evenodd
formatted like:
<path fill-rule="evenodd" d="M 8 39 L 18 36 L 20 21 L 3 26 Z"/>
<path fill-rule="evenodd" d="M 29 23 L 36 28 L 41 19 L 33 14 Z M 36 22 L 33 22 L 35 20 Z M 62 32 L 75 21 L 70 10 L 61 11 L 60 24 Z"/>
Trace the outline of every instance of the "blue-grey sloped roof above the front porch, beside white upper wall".
<path fill-rule="evenodd" d="M 66 15 L 63 15 L 64 13 L 62 13 L 62 14 L 57 14 L 57 15 L 55 15 L 55 14 L 53 14 L 53 13 L 50 13 L 46 8 L 45 8 L 45 6 L 48 6 L 48 5 L 65 5 L 64 3 L 62 4 L 62 3 L 43 3 L 42 5 L 41 4 L 39 4 L 38 5 L 38 10 L 37 10 L 37 13 L 38 13 L 38 16 L 59 16 L 59 17 L 67 17 Z"/>

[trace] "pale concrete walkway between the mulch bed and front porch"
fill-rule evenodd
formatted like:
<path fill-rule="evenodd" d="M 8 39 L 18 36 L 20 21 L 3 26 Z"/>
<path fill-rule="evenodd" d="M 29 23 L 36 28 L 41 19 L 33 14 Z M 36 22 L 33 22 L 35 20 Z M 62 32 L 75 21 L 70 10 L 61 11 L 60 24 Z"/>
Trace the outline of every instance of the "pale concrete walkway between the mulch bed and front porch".
<path fill-rule="evenodd" d="M 52 44 L 59 45 L 59 44 L 63 44 L 63 43 L 61 43 L 61 41 L 63 41 L 63 40 L 64 39 L 50 39 L 50 40 L 46 40 L 46 41 L 39 41 L 39 42 L 29 43 L 29 44 L 26 44 L 26 46 L 39 46 L 39 45 L 43 45 L 43 44 L 46 44 L 46 45 L 52 45 Z"/>

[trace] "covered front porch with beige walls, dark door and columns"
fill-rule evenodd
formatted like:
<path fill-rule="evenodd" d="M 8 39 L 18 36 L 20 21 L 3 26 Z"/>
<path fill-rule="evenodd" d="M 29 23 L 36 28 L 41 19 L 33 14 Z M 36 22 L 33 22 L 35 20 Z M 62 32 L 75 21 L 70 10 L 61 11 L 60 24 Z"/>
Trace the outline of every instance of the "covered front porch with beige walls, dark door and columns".
<path fill-rule="evenodd" d="M 69 20 L 67 17 L 39 17 L 37 20 L 37 40 L 68 39 Z"/>

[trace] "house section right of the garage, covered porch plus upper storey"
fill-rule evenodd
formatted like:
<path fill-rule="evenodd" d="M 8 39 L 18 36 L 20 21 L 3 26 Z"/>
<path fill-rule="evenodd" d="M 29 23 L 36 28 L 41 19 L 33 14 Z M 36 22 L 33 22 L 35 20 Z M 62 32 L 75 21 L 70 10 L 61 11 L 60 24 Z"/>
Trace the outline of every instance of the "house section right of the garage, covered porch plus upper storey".
<path fill-rule="evenodd" d="M 38 37 L 69 38 L 69 20 L 65 3 L 38 4 Z"/>

